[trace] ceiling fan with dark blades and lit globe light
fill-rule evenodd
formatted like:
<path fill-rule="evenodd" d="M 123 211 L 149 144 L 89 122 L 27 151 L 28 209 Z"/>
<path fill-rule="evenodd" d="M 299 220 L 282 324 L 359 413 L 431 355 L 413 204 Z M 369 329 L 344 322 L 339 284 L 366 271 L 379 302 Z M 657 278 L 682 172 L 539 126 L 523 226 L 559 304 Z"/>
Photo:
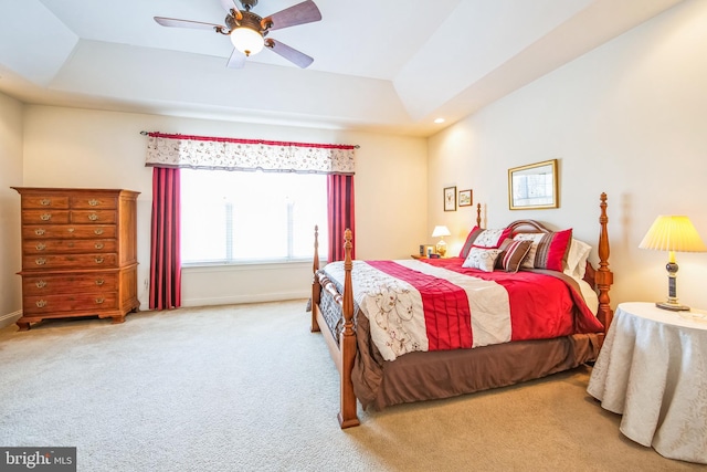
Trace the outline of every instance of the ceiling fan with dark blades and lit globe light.
<path fill-rule="evenodd" d="M 243 67 L 245 57 L 257 54 L 263 48 L 282 55 L 287 61 L 307 67 L 314 59 L 299 52 L 287 44 L 267 36 L 272 30 L 295 27 L 297 24 L 312 23 L 321 20 L 319 9 L 312 0 L 305 0 L 293 7 L 281 10 L 277 13 L 261 18 L 251 10 L 257 4 L 257 0 L 240 0 L 243 9 L 235 6 L 235 0 L 221 0 L 221 4 L 228 11 L 225 27 L 221 24 L 202 23 L 200 21 L 177 20 L 175 18 L 155 17 L 155 21 L 162 27 L 192 28 L 198 30 L 212 30 L 231 38 L 233 53 L 229 59 L 229 67 Z"/>

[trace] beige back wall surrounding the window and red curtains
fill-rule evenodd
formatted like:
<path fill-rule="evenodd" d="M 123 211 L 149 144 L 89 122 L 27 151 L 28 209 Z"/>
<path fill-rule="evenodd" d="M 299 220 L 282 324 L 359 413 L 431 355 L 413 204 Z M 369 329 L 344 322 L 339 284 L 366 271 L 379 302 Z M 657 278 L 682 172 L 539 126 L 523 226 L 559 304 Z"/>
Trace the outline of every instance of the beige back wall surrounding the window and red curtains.
<path fill-rule="evenodd" d="M 143 310 L 147 310 L 148 302 L 151 169 L 144 165 L 147 141 L 140 130 L 358 144 L 361 147 L 357 150 L 356 174 L 357 256 L 409 256 L 424 238 L 428 164 L 426 141 L 422 138 L 27 106 L 22 185 L 127 188 L 141 192 L 138 293 Z M 310 281 L 310 263 L 184 269 L 183 304 L 305 297 Z"/>

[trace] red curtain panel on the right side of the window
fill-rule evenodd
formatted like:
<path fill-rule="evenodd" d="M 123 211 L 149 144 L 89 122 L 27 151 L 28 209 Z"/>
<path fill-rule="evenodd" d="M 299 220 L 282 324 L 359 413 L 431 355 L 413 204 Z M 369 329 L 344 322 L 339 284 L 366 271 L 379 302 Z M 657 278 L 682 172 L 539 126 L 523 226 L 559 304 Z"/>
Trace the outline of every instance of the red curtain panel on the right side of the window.
<path fill-rule="evenodd" d="M 327 260 L 344 260 L 344 231 L 350 229 L 356 238 L 354 225 L 354 176 L 328 175 L 327 176 L 328 224 L 329 224 L 329 254 Z M 356 244 L 351 250 L 351 259 L 355 256 Z"/>

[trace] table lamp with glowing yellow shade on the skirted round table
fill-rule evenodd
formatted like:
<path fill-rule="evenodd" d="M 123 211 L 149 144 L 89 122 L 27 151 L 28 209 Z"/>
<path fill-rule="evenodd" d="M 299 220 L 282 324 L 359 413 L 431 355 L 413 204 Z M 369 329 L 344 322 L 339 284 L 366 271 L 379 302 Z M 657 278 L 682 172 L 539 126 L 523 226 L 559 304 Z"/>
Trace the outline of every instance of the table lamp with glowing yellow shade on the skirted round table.
<path fill-rule="evenodd" d="M 639 244 L 642 249 L 653 249 L 656 251 L 668 251 L 667 270 L 667 301 L 657 302 L 655 306 L 674 312 L 689 311 L 677 301 L 675 263 L 676 252 L 707 252 L 707 247 L 697 234 L 689 218 L 682 216 L 659 216 L 653 222 L 651 229 Z"/>

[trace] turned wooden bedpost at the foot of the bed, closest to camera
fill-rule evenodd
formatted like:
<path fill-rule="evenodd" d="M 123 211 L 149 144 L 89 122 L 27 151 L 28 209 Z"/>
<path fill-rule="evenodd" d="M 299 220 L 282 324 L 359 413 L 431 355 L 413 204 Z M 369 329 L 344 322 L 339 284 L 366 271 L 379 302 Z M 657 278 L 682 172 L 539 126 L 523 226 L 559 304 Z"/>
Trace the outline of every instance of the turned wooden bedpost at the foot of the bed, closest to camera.
<path fill-rule="evenodd" d="M 351 230 L 344 232 L 344 329 L 339 335 L 339 348 L 341 350 L 341 398 L 340 411 L 338 415 L 339 426 L 341 429 L 359 424 L 357 416 L 356 394 L 354 394 L 354 382 L 351 381 L 351 373 L 354 370 L 354 361 L 356 359 L 356 332 L 354 331 L 354 284 L 351 282 L 351 270 L 354 261 L 351 261 Z"/>

